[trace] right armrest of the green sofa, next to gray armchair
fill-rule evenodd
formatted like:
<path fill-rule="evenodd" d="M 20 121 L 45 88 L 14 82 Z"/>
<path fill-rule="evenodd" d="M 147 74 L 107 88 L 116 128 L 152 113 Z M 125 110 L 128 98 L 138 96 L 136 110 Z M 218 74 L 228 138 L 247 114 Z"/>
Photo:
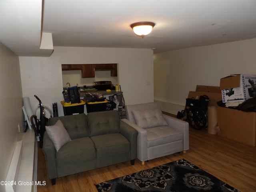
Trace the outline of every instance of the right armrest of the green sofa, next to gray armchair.
<path fill-rule="evenodd" d="M 131 145 L 131 160 L 137 158 L 137 136 L 138 132 L 124 121 L 120 121 L 120 133 L 125 136 Z"/>

